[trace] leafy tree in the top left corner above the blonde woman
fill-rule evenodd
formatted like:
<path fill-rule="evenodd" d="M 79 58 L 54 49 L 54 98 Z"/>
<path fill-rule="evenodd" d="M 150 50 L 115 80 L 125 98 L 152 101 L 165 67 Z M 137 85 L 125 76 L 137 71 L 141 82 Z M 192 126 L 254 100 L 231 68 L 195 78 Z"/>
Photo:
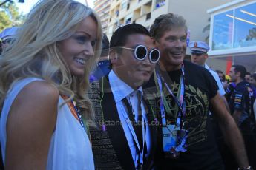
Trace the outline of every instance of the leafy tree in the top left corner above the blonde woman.
<path fill-rule="evenodd" d="M 8 1 L 0 7 L 0 32 L 7 27 L 19 26 L 23 21 L 24 15 L 19 13 L 13 1 Z"/>

